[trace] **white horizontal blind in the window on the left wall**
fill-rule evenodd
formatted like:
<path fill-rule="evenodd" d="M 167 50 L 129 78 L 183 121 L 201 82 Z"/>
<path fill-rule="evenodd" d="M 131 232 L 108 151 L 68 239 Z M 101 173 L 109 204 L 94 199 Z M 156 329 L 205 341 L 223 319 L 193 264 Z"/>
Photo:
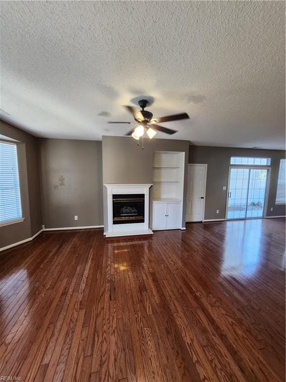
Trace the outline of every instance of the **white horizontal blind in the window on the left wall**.
<path fill-rule="evenodd" d="M 0 224 L 21 218 L 17 146 L 0 142 Z"/>

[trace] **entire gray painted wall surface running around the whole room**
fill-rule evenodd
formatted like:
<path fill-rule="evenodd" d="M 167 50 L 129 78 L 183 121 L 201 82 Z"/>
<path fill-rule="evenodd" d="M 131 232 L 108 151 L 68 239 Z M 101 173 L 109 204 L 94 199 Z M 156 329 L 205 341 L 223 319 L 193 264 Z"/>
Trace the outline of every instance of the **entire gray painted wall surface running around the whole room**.
<path fill-rule="evenodd" d="M 154 151 L 184 151 L 185 169 L 187 163 L 208 164 L 205 219 L 224 218 L 226 191 L 222 186 L 227 186 L 231 156 L 270 157 L 267 215 L 286 214 L 285 205 L 275 205 L 279 163 L 285 158 L 284 151 L 189 147 L 188 141 L 168 139 L 145 139 L 142 150 L 130 137 L 104 136 L 102 143 L 36 138 L 1 120 L 0 134 L 19 141 L 19 178 L 25 218 L 21 223 L 0 227 L 0 247 L 30 238 L 42 224 L 46 228 L 102 225 L 102 185 L 152 183 Z M 183 216 L 185 208 L 184 202 Z M 219 214 L 215 213 L 216 209 Z M 78 215 L 77 221 L 74 215 Z M 182 224 L 184 226 L 184 220 Z"/>

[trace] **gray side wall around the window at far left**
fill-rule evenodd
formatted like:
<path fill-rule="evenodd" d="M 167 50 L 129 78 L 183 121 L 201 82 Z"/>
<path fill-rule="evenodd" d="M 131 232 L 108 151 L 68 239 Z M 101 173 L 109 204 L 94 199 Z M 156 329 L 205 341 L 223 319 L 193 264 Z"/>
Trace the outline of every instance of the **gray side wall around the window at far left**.
<path fill-rule="evenodd" d="M 28 239 L 42 228 L 38 138 L 0 120 L 0 134 L 17 143 L 24 221 L 0 227 L 0 248 Z"/>

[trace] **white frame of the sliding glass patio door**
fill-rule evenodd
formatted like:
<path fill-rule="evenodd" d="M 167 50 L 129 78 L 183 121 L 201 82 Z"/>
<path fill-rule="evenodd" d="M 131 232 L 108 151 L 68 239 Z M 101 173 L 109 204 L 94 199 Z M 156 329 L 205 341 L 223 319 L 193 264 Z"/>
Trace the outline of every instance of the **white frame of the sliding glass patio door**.
<path fill-rule="evenodd" d="M 263 206 L 263 215 L 259 217 L 236 217 L 234 219 L 227 219 L 227 208 L 228 208 L 228 192 L 229 192 L 229 183 L 230 183 L 230 171 L 231 169 L 254 169 L 254 170 L 268 170 L 267 173 L 267 179 L 266 179 L 266 192 L 265 192 L 265 198 L 264 198 L 264 206 Z M 227 179 L 227 190 L 226 190 L 226 203 L 225 203 L 225 220 L 249 220 L 249 219 L 265 219 L 265 216 L 267 214 L 267 207 L 268 207 L 268 196 L 269 196 L 269 187 L 270 187 L 270 176 L 271 176 L 271 167 L 270 166 L 249 166 L 249 165 L 231 165 L 228 168 L 228 179 Z M 249 185 L 248 190 L 249 192 Z M 246 205 L 246 212 L 247 212 L 247 205 Z"/>

